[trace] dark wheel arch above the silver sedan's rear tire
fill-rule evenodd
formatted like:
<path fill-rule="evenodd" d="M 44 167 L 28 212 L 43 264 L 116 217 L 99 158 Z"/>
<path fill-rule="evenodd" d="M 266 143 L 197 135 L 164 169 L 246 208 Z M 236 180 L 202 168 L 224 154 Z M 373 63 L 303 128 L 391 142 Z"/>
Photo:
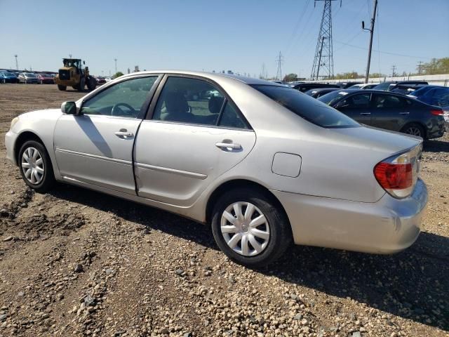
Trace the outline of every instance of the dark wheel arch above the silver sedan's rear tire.
<path fill-rule="evenodd" d="M 246 179 L 234 179 L 234 180 L 228 180 L 225 183 L 222 183 L 221 185 L 217 186 L 215 190 L 210 194 L 210 197 L 208 198 L 208 202 L 206 204 L 206 224 L 210 225 L 210 221 L 213 217 L 213 208 L 215 204 L 217 203 L 217 200 L 220 198 L 220 196 L 229 190 L 234 189 L 241 189 L 241 188 L 250 188 L 257 190 L 259 192 L 262 192 L 264 195 L 266 195 L 270 201 L 273 202 L 274 205 L 278 207 L 278 209 L 284 213 L 286 216 L 286 219 L 288 220 L 288 215 L 286 212 L 286 209 L 283 208 L 281 201 L 279 201 L 278 198 L 265 186 L 261 185 L 260 183 L 255 183 L 252 180 L 246 180 Z"/>

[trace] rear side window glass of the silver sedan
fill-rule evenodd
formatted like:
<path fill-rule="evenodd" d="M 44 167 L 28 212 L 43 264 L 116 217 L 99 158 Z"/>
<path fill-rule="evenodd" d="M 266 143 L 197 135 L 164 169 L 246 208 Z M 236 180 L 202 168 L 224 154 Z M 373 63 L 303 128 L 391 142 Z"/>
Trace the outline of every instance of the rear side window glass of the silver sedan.
<path fill-rule="evenodd" d="M 248 128 L 237 110 L 213 84 L 168 77 L 154 108 L 156 121 Z"/>

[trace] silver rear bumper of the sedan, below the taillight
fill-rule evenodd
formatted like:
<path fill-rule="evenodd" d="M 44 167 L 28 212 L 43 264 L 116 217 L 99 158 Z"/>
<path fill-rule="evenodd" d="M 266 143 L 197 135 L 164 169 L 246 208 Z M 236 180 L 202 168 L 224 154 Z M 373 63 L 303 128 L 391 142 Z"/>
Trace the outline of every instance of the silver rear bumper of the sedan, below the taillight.
<path fill-rule="evenodd" d="M 406 199 L 386 193 L 375 203 L 272 192 L 286 209 L 295 244 L 366 253 L 396 253 L 411 246 L 427 204 L 422 180 Z"/>

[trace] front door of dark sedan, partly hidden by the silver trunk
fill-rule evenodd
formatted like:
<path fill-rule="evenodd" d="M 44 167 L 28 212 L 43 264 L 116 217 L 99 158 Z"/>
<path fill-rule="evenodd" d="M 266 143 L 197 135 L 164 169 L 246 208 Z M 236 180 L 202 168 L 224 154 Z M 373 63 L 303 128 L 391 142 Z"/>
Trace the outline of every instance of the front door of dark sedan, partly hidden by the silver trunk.
<path fill-rule="evenodd" d="M 371 93 L 356 93 L 348 95 L 337 103 L 337 110 L 343 112 L 348 117 L 355 119 L 358 123 L 371 124 L 370 110 Z"/>

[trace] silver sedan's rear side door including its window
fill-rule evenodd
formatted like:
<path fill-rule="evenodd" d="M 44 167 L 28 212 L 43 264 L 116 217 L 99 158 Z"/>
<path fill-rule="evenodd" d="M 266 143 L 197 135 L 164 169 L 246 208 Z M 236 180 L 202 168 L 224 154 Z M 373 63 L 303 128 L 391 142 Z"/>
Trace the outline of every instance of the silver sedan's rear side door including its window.
<path fill-rule="evenodd" d="M 213 82 L 173 75 L 163 82 L 135 143 L 138 195 L 190 206 L 249 154 L 255 133 Z"/>

